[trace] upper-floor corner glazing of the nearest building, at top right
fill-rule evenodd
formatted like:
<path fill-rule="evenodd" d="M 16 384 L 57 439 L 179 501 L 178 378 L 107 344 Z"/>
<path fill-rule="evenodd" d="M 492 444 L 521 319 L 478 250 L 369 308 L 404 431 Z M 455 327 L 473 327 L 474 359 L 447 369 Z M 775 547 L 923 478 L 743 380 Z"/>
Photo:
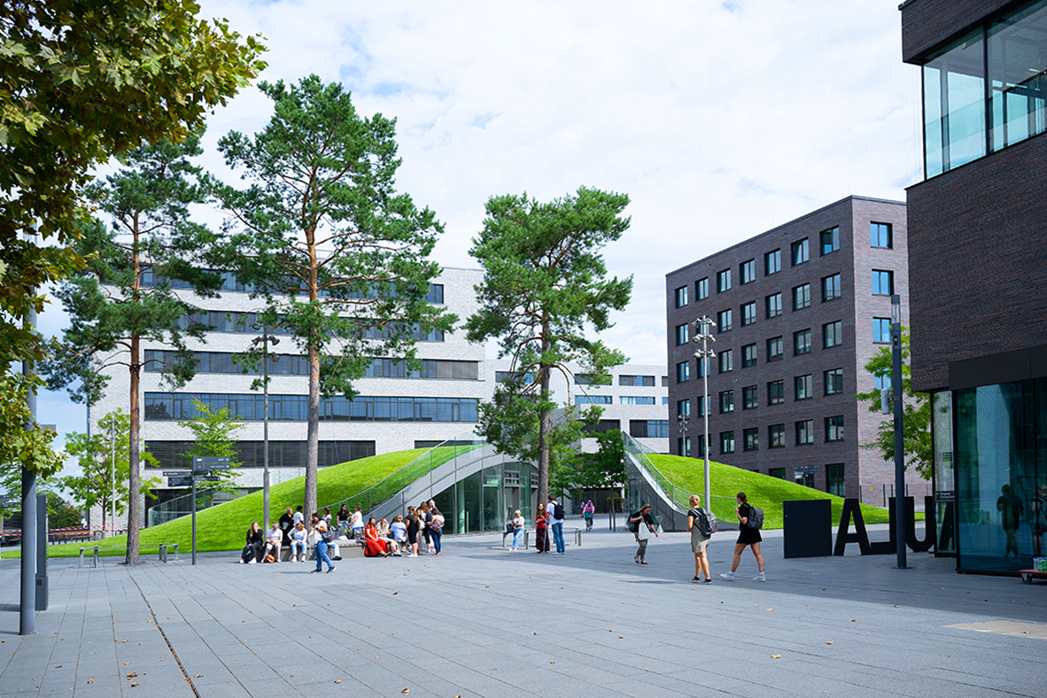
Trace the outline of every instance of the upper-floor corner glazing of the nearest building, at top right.
<path fill-rule="evenodd" d="M 997 17 L 923 64 L 925 175 L 1047 129 L 1047 0 Z"/>

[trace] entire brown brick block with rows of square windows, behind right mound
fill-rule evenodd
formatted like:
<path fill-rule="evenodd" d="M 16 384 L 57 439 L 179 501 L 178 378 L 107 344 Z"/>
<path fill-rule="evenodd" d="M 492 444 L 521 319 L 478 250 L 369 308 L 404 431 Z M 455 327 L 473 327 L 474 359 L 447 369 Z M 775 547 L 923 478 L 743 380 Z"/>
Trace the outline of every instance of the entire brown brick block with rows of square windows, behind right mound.
<path fill-rule="evenodd" d="M 907 321 L 906 206 L 848 197 L 666 274 L 671 451 L 885 503 L 894 466 L 862 449 L 886 418 L 854 400 Z M 716 322 L 703 405 L 695 320 Z M 911 491 L 912 493 L 912 491 Z M 922 494 L 918 489 L 916 494 Z"/>

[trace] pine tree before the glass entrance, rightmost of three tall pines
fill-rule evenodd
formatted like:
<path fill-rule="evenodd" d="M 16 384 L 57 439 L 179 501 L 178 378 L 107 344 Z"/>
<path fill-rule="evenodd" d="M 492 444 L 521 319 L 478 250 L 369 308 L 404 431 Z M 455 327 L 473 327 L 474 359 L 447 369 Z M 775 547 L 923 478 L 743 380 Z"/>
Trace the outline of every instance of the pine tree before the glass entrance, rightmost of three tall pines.
<path fill-rule="evenodd" d="M 609 368 L 625 360 L 587 331 L 610 328 L 610 312 L 629 302 L 632 277 L 607 278 L 602 254 L 628 229 L 629 219 L 621 217 L 628 202 L 626 195 L 584 186 L 548 203 L 527 194 L 491 197 L 469 252 L 484 267 L 480 310 L 466 323 L 469 340 L 496 339 L 514 374 L 535 378 L 500 384 L 482 407 L 480 430 L 502 452 L 537 456 L 539 501 L 549 492 L 550 454 L 564 441 L 556 431 L 578 422 L 569 416 L 554 425 L 553 371 L 571 385 L 570 364 L 578 364 L 591 383 L 606 383 Z M 598 416 L 594 407 L 581 419 Z"/>

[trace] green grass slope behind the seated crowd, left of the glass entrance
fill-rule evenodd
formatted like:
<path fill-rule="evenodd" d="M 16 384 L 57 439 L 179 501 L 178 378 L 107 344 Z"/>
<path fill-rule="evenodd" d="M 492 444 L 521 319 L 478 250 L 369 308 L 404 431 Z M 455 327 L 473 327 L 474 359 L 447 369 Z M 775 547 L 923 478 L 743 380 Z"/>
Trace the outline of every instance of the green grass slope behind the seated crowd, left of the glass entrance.
<path fill-rule="evenodd" d="M 455 452 L 462 453 L 462 447 L 456 450 L 453 447 L 431 449 L 430 458 L 411 465 L 410 473 L 403 475 L 410 477 L 410 479 L 417 479 L 424 472 L 428 472 L 430 468 L 446 463 L 454 457 Z M 346 499 L 349 499 L 351 505 L 355 505 L 356 498 L 359 497 L 361 505 L 365 510 L 370 509 L 367 501 L 378 503 L 403 487 L 399 485 L 404 479 L 401 474 L 392 478 L 388 476 L 397 473 L 425 452 L 426 449 L 397 451 L 325 468 L 317 475 L 316 500 L 320 502 L 320 506 L 332 505 Z M 279 518 L 288 506 L 294 508 L 302 503 L 304 485 L 305 477 L 297 477 L 274 485 L 269 489 L 269 512 L 273 519 Z M 376 485 L 378 487 L 374 487 Z M 365 493 L 372 487 L 374 489 L 370 493 Z M 365 494 L 361 495 L 361 493 Z M 335 510 L 332 509 L 333 511 Z M 261 491 L 200 512 L 197 514 L 197 550 L 239 550 L 243 548 L 244 535 L 250 527 L 251 521 L 262 522 Z M 179 553 L 187 553 L 192 550 L 192 517 L 185 516 L 158 526 L 142 528 L 139 537 L 139 551 L 141 555 L 155 555 L 157 546 L 161 543 L 178 543 Z M 101 541 L 99 544 L 104 546 L 99 550 L 101 555 L 122 556 L 127 549 L 127 538 L 126 536 L 116 536 Z M 48 557 L 74 558 L 80 555 L 80 548 L 88 544 L 49 545 L 47 547 Z M 91 545 L 93 546 L 93 543 Z M 18 557 L 20 553 L 19 549 L 7 550 L 3 557 L 14 558 Z"/>

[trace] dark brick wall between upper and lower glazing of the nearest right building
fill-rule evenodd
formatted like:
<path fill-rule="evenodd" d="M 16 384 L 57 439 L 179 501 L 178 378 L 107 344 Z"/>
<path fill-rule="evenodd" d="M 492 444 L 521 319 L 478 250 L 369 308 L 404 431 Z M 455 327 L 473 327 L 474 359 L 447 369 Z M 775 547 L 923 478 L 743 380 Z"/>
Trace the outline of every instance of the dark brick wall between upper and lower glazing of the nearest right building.
<path fill-rule="evenodd" d="M 1040 135 L 909 188 L 914 389 L 1047 342 L 1045 161 Z"/>

